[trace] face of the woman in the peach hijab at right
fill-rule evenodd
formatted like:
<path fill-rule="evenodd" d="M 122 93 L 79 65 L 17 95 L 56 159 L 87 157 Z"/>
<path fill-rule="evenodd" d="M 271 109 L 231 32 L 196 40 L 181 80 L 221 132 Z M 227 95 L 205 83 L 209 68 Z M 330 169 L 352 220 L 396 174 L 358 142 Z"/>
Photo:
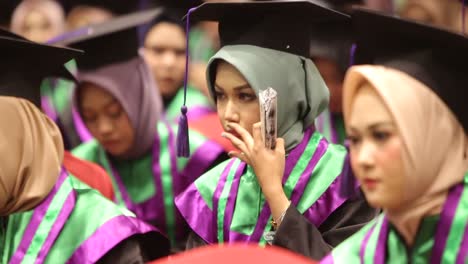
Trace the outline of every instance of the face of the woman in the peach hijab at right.
<path fill-rule="evenodd" d="M 351 166 L 373 207 L 398 209 L 404 203 L 404 146 L 382 99 L 369 84 L 361 86 L 346 124 Z"/>

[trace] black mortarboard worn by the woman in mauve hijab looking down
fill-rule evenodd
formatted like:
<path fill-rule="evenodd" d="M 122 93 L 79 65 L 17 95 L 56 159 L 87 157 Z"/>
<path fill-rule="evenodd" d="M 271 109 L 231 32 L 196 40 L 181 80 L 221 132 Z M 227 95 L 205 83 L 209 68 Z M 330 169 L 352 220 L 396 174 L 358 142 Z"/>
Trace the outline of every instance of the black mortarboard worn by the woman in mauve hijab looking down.
<path fill-rule="evenodd" d="M 150 22 L 160 12 L 156 8 L 120 16 L 63 34 L 49 43 L 84 50 L 85 55 L 77 60 L 80 70 L 123 62 L 138 56 L 138 26 Z"/>

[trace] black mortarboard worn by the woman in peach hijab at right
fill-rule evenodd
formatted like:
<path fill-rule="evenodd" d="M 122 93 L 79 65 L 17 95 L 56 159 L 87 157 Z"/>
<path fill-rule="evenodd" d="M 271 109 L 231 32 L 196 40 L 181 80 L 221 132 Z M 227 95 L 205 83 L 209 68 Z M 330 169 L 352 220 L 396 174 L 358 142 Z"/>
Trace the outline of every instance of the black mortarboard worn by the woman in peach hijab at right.
<path fill-rule="evenodd" d="M 433 90 L 468 132 L 468 38 L 418 22 L 357 9 L 356 64 L 401 70 Z"/>

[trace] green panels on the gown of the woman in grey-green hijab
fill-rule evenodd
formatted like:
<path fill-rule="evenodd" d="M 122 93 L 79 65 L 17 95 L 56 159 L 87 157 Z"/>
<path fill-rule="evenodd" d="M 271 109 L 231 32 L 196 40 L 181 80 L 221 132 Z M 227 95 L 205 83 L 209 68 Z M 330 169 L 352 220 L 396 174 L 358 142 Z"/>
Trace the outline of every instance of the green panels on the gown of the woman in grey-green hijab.
<path fill-rule="evenodd" d="M 323 136 L 320 133 L 314 133 L 309 140 L 304 153 L 295 164 L 291 175 L 284 185 L 285 194 L 290 197 L 293 189 L 295 188 L 301 174 L 310 163 L 313 154 L 317 150 L 317 146 Z M 319 160 L 309 182 L 306 185 L 305 191 L 299 203 L 297 209 L 304 213 L 309 209 L 315 201 L 328 189 L 330 184 L 336 179 L 341 173 L 343 167 L 346 150 L 344 147 L 339 145 L 329 144 L 322 158 Z M 213 208 L 212 200 L 213 195 L 218 185 L 221 174 L 227 167 L 229 161 L 226 161 L 214 169 L 210 170 L 197 181 L 195 186 L 198 192 L 201 194 L 203 200 L 210 209 Z M 223 224 L 224 224 L 224 212 L 226 207 L 226 201 L 230 193 L 234 174 L 239 166 L 239 161 L 231 167 L 226 184 L 222 190 L 220 199 L 218 201 L 218 212 L 217 214 L 217 229 L 218 229 L 218 242 L 223 242 Z M 257 181 L 257 177 L 253 169 L 247 166 L 246 171 L 240 178 L 239 189 L 236 194 L 236 204 L 233 213 L 233 219 L 230 225 L 230 229 L 237 233 L 244 235 L 252 235 L 255 225 L 258 221 L 258 217 L 262 207 L 265 204 L 265 197 L 260 189 L 260 185 Z M 271 229 L 270 224 L 267 224 L 265 231 Z M 264 244 L 265 241 L 262 238 L 259 241 L 260 244 Z"/>

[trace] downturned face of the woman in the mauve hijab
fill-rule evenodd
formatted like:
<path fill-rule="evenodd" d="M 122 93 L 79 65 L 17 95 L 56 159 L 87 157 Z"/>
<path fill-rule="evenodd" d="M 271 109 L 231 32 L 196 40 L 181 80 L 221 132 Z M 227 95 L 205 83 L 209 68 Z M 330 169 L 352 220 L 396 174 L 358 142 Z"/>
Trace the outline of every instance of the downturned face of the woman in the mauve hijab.
<path fill-rule="evenodd" d="M 111 155 L 125 154 L 133 145 L 135 132 L 122 105 L 91 83 L 80 87 L 79 98 L 81 116 L 91 134 Z"/>

